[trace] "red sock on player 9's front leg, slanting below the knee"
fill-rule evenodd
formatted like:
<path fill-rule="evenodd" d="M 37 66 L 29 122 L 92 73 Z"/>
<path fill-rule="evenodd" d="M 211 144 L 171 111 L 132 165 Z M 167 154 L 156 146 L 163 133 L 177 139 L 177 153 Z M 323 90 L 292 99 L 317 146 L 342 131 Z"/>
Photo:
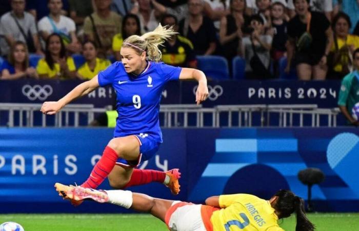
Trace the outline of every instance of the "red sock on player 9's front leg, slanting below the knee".
<path fill-rule="evenodd" d="M 110 174 L 118 159 L 115 150 L 107 146 L 104 153 L 93 167 L 90 177 L 81 185 L 86 188 L 97 188 Z"/>

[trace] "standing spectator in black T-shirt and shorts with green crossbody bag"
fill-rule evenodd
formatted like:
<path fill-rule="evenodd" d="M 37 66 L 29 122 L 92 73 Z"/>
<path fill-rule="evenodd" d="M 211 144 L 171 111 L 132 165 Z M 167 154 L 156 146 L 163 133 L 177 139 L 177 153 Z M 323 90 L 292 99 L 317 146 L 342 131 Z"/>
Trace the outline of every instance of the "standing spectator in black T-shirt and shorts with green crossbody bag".
<path fill-rule="evenodd" d="M 294 5 L 296 15 L 287 27 L 286 72 L 289 72 L 294 56 L 300 80 L 324 80 L 328 69 L 327 56 L 333 42 L 330 23 L 323 13 L 309 11 L 309 0 L 295 0 Z"/>

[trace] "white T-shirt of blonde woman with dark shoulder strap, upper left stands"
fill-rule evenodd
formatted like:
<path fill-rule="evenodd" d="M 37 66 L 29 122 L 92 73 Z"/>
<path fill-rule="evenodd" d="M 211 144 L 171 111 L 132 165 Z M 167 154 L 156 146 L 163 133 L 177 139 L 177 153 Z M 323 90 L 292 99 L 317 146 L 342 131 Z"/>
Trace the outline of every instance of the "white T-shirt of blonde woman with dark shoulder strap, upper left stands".
<path fill-rule="evenodd" d="M 54 25 L 56 26 L 58 31 L 60 31 L 68 36 L 70 36 L 70 32 L 76 31 L 75 23 L 69 17 L 61 15 L 60 21 L 55 22 L 52 20 L 52 22 L 54 23 Z M 47 32 L 48 34 L 51 34 L 55 31 L 55 29 L 53 28 L 53 26 L 49 20 L 49 16 L 45 16 L 45 17 L 41 18 L 41 20 L 38 21 L 37 27 L 40 32 L 44 31 L 44 32 Z"/>

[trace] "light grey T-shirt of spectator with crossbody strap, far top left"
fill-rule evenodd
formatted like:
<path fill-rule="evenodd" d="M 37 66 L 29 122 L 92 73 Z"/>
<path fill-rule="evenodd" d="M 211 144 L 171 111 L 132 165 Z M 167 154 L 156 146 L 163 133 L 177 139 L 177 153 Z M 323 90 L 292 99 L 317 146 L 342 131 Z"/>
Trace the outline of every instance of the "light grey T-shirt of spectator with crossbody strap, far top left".
<path fill-rule="evenodd" d="M 12 12 L 7 12 L 0 19 L 0 35 L 11 35 L 15 41 L 23 41 L 26 43 L 26 38 L 21 33 L 20 29 L 16 25 L 14 17 L 16 17 Z M 18 24 L 23 28 L 26 36 L 37 34 L 35 18 L 28 12 L 24 12 L 23 18 L 16 17 Z M 2 54 L 6 55 L 9 53 L 9 45 L 6 42 L 5 38 L 1 38 L 0 42 Z"/>

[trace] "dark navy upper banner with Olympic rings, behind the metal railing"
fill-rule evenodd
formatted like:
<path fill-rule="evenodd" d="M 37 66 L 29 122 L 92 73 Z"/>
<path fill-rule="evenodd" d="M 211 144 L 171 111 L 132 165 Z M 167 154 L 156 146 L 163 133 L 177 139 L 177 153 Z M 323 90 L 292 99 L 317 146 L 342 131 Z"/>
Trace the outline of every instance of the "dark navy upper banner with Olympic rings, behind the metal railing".
<path fill-rule="evenodd" d="M 81 81 L 0 81 L 1 103 L 42 103 L 56 101 Z M 193 104 L 195 81 L 170 82 L 162 92 L 162 104 Z M 205 107 L 236 104 L 317 104 L 337 106 L 340 81 L 210 81 Z M 112 87 L 100 87 L 74 103 L 104 107 L 114 104 Z"/>

